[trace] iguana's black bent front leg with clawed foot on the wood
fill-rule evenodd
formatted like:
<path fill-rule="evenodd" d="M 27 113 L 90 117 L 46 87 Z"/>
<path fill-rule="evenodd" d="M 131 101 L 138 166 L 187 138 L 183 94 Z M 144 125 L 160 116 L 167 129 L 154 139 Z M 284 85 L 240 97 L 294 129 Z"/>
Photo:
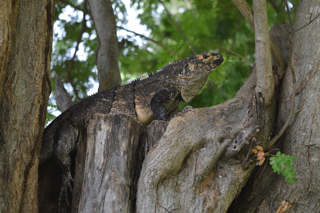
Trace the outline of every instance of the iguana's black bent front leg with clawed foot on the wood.
<path fill-rule="evenodd" d="M 169 89 L 161 89 L 151 98 L 151 111 L 156 116 L 156 119 L 165 121 L 170 121 L 186 111 L 193 111 L 191 106 L 186 106 L 180 112 L 177 112 L 181 99 L 178 91 L 170 92 Z"/>

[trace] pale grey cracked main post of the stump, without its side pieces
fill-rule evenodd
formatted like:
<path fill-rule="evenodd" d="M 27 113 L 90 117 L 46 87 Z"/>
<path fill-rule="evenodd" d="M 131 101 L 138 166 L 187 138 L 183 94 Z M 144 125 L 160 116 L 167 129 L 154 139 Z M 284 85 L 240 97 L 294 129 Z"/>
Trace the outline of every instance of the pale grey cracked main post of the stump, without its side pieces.
<path fill-rule="evenodd" d="M 93 115 L 79 212 L 132 212 L 134 163 L 143 129 L 128 116 Z"/>

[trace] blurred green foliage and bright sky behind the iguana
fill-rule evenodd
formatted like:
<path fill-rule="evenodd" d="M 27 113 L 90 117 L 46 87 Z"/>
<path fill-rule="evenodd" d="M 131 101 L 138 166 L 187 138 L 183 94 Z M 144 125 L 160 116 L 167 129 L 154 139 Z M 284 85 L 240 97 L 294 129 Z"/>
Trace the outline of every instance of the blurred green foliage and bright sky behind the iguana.
<path fill-rule="evenodd" d="M 255 59 L 255 37 L 232 1 L 223 0 L 113 0 L 119 41 L 122 81 L 156 71 L 165 63 L 207 51 L 225 61 L 209 76 L 188 105 L 209 107 L 234 97 L 250 74 Z M 252 2 L 247 1 L 252 7 Z M 288 1 L 292 22 L 298 0 Z M 268 0 L 269 26 L 283 23 L 283 0 Z M 288 23 L 288 17 L 286 16 Z M 55 97 L 58 74 L 74 102 L 98 90 L 95 50 L 97 37 L 87 0 L 57 0 L 53 54 L 52 95 L 47 122 L 59 114 Z M 186 103 L 181 103 L 180 108 Z"/>

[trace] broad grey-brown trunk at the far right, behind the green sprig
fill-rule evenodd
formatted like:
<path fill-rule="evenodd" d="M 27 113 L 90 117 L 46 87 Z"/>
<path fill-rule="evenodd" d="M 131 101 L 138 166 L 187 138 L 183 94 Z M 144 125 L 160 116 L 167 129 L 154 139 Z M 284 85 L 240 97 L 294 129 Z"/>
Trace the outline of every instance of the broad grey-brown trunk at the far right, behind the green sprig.
<path fill-rule="evenodd" d="M 319 1 L 300 1 L 293 30 L 309 22 L 320 12 Z M 320 119 L 320 18 L 292 35 L 292 67 L 295 70 L 297 90 L 292 91 L 292 77 L 287 70 L 279 97 L 277 130 L 288 117 L 292 92 L 296 92 L 298 110 L 306 99 L 302 110 L 294 114 L 289 127 L 279 140 L 277 148 L 293 155 L 296 161 L 298 181 L 286 183 L 283 176 L 272 172 L 268 164 L 259 167 L 252 175 L 243 192 L 229 212 L 320 212 L 319 133 Z M 273 174 L 272 174 L 273 173 Z"/>

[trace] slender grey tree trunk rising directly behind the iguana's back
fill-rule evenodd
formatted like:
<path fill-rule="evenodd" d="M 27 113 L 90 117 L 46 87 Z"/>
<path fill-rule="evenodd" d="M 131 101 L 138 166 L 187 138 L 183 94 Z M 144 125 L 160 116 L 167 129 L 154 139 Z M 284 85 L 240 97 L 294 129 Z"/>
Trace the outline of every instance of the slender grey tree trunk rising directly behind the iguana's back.
<path fill-rule="evenodd" d="M 96 64 L 99 90 L 121 84 L 116 20 L 110 0 L 89 0 L 91 18 L 98 37 Z"/>

